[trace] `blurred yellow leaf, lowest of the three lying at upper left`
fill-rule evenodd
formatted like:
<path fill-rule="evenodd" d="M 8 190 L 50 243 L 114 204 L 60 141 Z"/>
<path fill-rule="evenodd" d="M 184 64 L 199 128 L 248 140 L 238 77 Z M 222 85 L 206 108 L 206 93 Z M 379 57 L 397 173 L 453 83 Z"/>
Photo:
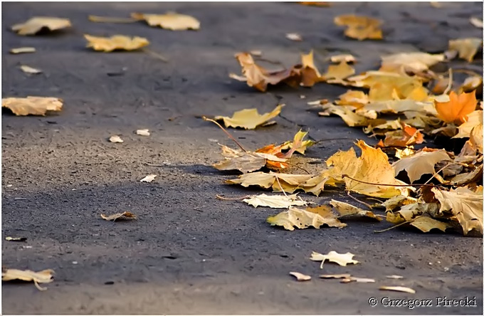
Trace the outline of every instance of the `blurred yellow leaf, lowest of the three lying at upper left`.
<path fill-rule="evenodd" d="M 95 51 L 105 52 L 115 50 L 135 51 L 149 44 L 146 38 L 138 36 L 115 35 L 111 37 L 100 37 L 84 34 L 84 38 L 88 40 L 88 46 L 86 47 L 92 47 Z"/>

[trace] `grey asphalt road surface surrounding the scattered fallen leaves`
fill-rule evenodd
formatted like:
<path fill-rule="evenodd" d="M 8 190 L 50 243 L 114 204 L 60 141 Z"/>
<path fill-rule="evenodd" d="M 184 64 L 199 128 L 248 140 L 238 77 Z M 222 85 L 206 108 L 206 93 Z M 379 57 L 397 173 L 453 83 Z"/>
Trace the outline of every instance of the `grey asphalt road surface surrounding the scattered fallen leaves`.
<path fill-rule="evenodd" d="M 88 14 L 128 16 L 130 12 L 177 10 L 196 16 L 200 31 L 173 32 L 144 23 L 91 23 Z M 356 13 L 385 21 L 384 41 L 352 41 L 332 19 Z M 448 39 L 482 36 L 470 16 L 482 16 L 479 3 L 335 4 L 313 8 L 298 4 L 130 4 L 43 3 L 2 5 L 2 97 L 40 95 L 65 100 L 58 115 L 15 117 L 2 112 L 2 239 L 24 236 L 26 243 L 4 241 L 2 265 L 53 268 L 48 290 L 31 283 L 4 283 L 3 312 L 15 314 L 482 314 L 481 238 L 458 233 L 419 233 L 386 223 L 352 221 L 343 229 L 284 231 L 265 223 L 272 209 L 253 209 L 216 194 L 243 196 L 248 190 L 223 184 L 236 173 L 210 165 L 219 146 L 231 144 L 199 115 L 231 115 L 258 107 L 268 112 L 286 104 L 277 125 L 231 130 L 256 149 L 293 137 L 300 127 L 313 139 L 330 139 L 307 152 L 300 163 L 312 171 L 354 139 L 365 139 L 339 117 L 307 111 L 308 100 L 334 99 L 346 91 L 320 84 L 311 89 L 271 88 L 258 93 L 228 78 L 239 73 L 233 54 L 261 50 L 265 58 L 287 65 L 315 49 L 316 62 L 352 53 L 357 71 L 376 68 L 379 56 L 403 51 L 441 52 Z M 8 26 L 31 16 L 71 19 L 73 29 L 50 36 L 22 37 Z M 298 32 L 305 41 L 289 41 Z M 169 63 L 147 53 L 95 53 L 83 33 L 144 36 Z M 9 55 L 14 47 L 36 53 Z M 480 69 L 481 58 L 473 64 Z M 44 70 L 26 75 L 24 63 Z M 456 62 L 455 65 L 465 65 Z M 123 75 L 108 76 L 107 73 Z M 306 95 L 306 99 L 300 99 Z M 149 137 L 134 131 L 148 128 Z M 123 144 L 107 142 L 121 135 Z M 335 140 L 335 138 L 342 138 Z M 331 140 L 332 139 L 332 140 Z M 232 144 L 231 144 L 232 145 Z M 293 170 L 298 172 L 298 170 Z M 140 183 L 157 174 L 152 183 Z M 325 191 L 307 199 L 324 203 L 347 199 Z M 137 221 L 108 222 L 100 213 L 132 211 Z M 26 247 L 28 246 L 28 247 Z M 377 283 L 342 284 L 321 280 L 311 251 L 350 251 L 361 263 L 325 265 L 324 273 L 352 273 Z M 288 273 L 313 275 L 297 283 Z M 385 275 L 403 275 L 389 280 Z M 415 295 L 382 292 L 379 285 L 404 285 Z M 382 297 L 432 299 L 433 307 L 384 307 Z M 437 296 L 476 298 L 478 307 L 436 307 Z M 370 307 L 369 297 L 377 297 Z"/>

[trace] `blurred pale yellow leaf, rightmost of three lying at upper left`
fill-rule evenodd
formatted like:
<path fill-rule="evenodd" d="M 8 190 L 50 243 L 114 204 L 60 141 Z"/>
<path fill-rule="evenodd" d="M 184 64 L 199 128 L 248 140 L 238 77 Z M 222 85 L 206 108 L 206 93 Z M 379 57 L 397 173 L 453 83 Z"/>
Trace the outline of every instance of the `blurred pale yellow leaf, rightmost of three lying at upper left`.
<path fill-rule="evenodd" d="M 144 20 L 149 26 L 160 26 L 172 31 L 198 30 L 199 20 L 193 16 L 167 12 L 166 14 L 131 14 L 132 18 Z"/>

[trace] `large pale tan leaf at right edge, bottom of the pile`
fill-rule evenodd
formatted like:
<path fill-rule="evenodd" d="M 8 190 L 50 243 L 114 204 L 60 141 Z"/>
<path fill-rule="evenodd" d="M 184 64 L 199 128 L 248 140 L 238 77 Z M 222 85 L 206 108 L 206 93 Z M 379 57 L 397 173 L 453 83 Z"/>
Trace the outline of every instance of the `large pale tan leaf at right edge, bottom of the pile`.
<path fill-rule="evenodd" d="M 482 188 L 482 186 L 480 186 Z M 461 224 L 464 235 L 475 230 L 483 234 L 483 192 L 458 187 L 450 191 L 432 189 L 436 199 L 441 202 L 440 211 L 452 211 Z"/>

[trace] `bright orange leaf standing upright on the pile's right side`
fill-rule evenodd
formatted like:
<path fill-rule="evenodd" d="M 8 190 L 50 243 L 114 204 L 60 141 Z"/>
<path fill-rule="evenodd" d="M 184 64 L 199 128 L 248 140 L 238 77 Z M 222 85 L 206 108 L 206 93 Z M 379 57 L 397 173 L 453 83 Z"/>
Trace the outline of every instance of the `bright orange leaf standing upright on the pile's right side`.
<path fill-rule="evenodd" d="M 438 117 L 446 123 L 461 124 L 467 120 L 467 115 L 474 112 L 478 105 L 475 90 L 457 95 L 451 91 L 448 102 L 435 102 Z"/>

